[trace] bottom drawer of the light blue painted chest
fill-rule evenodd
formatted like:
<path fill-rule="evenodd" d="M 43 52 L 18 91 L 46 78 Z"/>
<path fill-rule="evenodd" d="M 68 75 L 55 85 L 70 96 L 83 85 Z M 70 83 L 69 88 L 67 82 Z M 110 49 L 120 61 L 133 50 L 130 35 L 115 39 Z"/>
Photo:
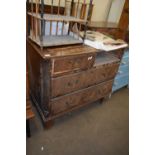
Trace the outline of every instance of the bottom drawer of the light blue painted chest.
<path fill-rule="evenodd" d="M 129 74 L 116 78 L 114 80 L 112 91 L 116 91 L 129 84 Z"/>

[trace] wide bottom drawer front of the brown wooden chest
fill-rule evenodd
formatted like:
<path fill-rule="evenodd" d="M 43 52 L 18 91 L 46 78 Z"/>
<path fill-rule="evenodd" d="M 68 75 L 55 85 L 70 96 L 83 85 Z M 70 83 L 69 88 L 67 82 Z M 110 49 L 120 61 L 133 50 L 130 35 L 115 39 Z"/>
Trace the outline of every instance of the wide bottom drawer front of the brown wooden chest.
<path fill-rule="evenodd" d="M 51 100 L 50 106 L 53 115 L 72 109 L 73 107 L 94 102 L 107 96 L 112 90 L 113 81 L 107 81 L 74 93 L 57 97 Z"/>

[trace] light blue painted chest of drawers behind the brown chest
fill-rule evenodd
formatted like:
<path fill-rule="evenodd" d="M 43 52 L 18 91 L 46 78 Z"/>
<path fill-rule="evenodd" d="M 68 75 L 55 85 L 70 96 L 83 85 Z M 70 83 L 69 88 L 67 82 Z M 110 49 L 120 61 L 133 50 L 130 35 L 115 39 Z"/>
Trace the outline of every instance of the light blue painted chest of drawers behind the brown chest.
<path fill-rule="evenodd" d="M 124 55 L 114 80 L 112 91 L 129 85 L 129 49 L 125 49 Z"/>

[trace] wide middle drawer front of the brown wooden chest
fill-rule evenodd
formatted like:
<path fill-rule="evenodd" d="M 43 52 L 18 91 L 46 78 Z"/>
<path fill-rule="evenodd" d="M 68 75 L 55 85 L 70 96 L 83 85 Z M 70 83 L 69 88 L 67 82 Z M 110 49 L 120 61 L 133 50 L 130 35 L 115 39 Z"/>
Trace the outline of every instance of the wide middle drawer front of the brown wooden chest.
<path fill-rule="evenodd" d="M 87 71 L 52 78 L 52 97 L 87 88 L 115 77 L 119 63 L 93 67 Z"/>

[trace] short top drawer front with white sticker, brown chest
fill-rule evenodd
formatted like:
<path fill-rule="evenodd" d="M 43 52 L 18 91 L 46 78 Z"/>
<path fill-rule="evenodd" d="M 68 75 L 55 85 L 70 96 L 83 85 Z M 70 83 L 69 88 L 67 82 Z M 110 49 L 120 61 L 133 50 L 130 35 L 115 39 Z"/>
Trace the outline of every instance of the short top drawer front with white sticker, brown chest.
<path fill-rule="evenodd" d="M 95 53 L 55 58 L 52 60 L 52 76 L 60 76 L 75 70 L 91 68 L 95 61 Z"/>

